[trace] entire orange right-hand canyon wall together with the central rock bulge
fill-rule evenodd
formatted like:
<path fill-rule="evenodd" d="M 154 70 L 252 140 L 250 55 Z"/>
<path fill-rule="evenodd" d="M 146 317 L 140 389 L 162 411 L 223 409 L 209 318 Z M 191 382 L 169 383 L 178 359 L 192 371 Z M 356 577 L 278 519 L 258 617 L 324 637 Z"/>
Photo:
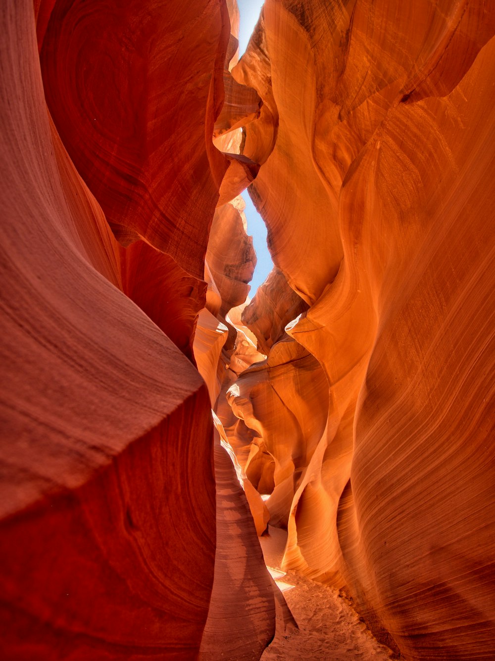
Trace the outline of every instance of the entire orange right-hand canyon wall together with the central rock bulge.
<path fill-rule="evenodd" d="M 310 306 L 286 331 L 325 381 L 296 377 L 306 458 L 286 341 L 230 388 L 226 430 L 277 516 L 268 471 L 297 458 L 284 566 L 346 585 L 408 660 L 495 648 L 494 33 L 482 0 L 266 0 L 232 69 L 263 101 L 249 192 Z"/>

